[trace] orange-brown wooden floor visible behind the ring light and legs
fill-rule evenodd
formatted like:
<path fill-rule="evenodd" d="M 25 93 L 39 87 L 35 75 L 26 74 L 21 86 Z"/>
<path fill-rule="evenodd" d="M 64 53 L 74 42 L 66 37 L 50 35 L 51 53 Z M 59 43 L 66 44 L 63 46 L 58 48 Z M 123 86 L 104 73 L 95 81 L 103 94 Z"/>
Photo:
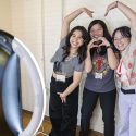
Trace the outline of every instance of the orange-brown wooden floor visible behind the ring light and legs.
<path fill-rule="evenodd" d="M 24 126 L 27 126 L 28 122 L 30 121 L 30 114 L 24 112 L 23 116 L 24 116 L 23 124 Z M 50 131 L 51 131 L 51 123 L 49 120 L 45 119 L 39 132 L 42 132 L 44 134 L 49 134 Z M 38 134 L 37 136 L 44 136 L 44 134 Z M 77 128 L 76 136 L 79 136 L 79 128 Z M 89 136 L 103 136 L 103 135 L 101 133 L 91 132 L 91 135 Z"/>

